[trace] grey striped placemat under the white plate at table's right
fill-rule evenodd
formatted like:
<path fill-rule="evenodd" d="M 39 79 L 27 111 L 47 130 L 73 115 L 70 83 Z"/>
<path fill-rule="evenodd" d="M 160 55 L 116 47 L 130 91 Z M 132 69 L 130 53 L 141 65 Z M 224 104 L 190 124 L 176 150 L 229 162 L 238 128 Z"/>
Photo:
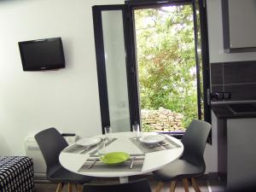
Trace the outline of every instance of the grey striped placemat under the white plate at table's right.
<path fill-rule="evenodd" d="M 173 142 L 172 139 L 166 137 L 166 139 L 160 143 L 155 144 L 147 144 L 142 143 L 137 137 L 131 137 L 131 142 L 134 143 L 137 148 L 139 148 L 144 154 L 155 152 L 155 151 L 161 151 L 171 148 L 180 148 L 181 146 L 177 143 Z"/>

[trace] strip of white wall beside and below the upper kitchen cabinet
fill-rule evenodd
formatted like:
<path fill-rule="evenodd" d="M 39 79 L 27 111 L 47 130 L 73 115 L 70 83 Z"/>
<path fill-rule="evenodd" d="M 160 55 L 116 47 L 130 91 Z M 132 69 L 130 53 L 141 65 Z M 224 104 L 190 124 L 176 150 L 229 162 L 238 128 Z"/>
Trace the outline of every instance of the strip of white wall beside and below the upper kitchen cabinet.
<path fill-rule="evenodd" d="M 207 0 L 207 17 L 210 63 L 256 60 L 255 52 L 224 53 L 221 0 Z"/>

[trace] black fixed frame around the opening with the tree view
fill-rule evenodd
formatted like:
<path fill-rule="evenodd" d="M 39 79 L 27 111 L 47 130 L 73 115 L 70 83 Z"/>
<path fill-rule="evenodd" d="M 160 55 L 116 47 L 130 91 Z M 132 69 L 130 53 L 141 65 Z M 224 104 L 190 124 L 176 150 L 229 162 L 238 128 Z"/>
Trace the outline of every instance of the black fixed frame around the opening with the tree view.
<path fill-rule="evenodd" d="M 211 117 L 211 108 L 208 105 L 208 95 L 207 95 L 207 90 L 210 89 L 210 73 L 209 73 L 209 49 L 208 49 L 208 37 L 207 37 L 207 11 L 206 11 L 206 2 L 203 0 L 167 0 L 167 1 L 159 1 L 159 0 L 150 0 L 146 1 L 145 0 L 130 0 L 130 1 L 125 1 L 125 4 L 128 6 L 128 15 L 130 18 L 130 34 L 131 34 L 131 50 L 133 50 L 133 58 L 134 61 L 131 63 L 131 69 L 136 69 L 136 74 L 134 74 L 134 77 L 131 81 L 135 82 L 137 87 L 134 87 L 134 90 L 137 91 L 137 93 L 134 94 L 134 96 L 137 96 L 137 102 L 135 102 L 135 105 L 137 106 L 136 111 L 139 114 L 137 116 L 137 122 L 140 121 L 140 105 L 139 105 L 139 93 L 138 93 L 138 75 L 137 75 L 137 58 L 136 58 L 136 52 L 135 50 L 137 49 L 136 46 L 136 33 L 134 32 L 134 15 L 133 15 L 133 10 L 134 9 L 149 9 L 149 8 L 155 8 L 157 6 L 162 7 L 164 5 L 182 5 L 182 4 L 191 4 L 192 5 L 192 11 L 193 11 L 193 19 L 194 19 L 194 26 L 196 26 L 196 15 L 195 15 L 195 3 L 199 3 L 200 7 L 200 31 L 201 31 L 201 55 L 202 55 L 202 73 L 199 72 L 199 58 L 198 55 L 196 54 L 197 52 L 197 44 L 198 44 L 198 39 L 196 36 L 197 27 L 194 29 L 195 33 L 195 62 L 196 62 L 196 69 L 197 69 L 197 85 L 200 85 L 200 75 L 202 75 L 203 78 L 203 84 L 202 87 L 198 86 L 199 88 L 197 89 L 197 106 L 198 106 L 198 117 L 201 119 L 201 107 L 204 108 L 204 119 L 211 123 L 212 122 L 212 117 Z M 128 32 L 129 34 L 129 32 Z M 132 82 L 128 83 L 132 84 Z M 201 89 L 203 90 L 203 104 L 201 106 Z M 136 100 L 136 99 L 133 99 Z M 132 100 L 131 100 L 132 101 Z M 180 134 L 180 133 L 178 133 Z"/>

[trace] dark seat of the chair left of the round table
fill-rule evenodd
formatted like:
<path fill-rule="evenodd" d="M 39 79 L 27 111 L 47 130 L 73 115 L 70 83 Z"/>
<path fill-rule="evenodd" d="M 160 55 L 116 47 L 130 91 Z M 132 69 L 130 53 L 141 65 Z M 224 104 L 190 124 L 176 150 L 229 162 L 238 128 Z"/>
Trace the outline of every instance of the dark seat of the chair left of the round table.
<path fill-rule="evenodd" d="M 58 166 L 55 171 L 50 172 L 47 176 L 49 180 L 57 183 L 75 183 L 75 184 L 83 184 L 88 183 L 91 177 L 86 177 L 83 175 L 79 175 L 73 172 L 69 172 L 67 169 L 62 166 Z"/>

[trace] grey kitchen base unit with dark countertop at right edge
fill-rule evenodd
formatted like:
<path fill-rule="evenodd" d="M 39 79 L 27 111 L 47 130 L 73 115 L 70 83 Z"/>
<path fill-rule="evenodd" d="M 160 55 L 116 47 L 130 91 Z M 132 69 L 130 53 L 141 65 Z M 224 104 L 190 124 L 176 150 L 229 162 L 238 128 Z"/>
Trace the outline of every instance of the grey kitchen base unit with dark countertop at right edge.
<path fill-rule="evenodd" d="M 256 177 L 256 154 L 252 150 L 256 146 L 256 103 L 211 104 L 217 117 L 218 175 L 225 183 L 225 191 L 233 191 Z"/>

